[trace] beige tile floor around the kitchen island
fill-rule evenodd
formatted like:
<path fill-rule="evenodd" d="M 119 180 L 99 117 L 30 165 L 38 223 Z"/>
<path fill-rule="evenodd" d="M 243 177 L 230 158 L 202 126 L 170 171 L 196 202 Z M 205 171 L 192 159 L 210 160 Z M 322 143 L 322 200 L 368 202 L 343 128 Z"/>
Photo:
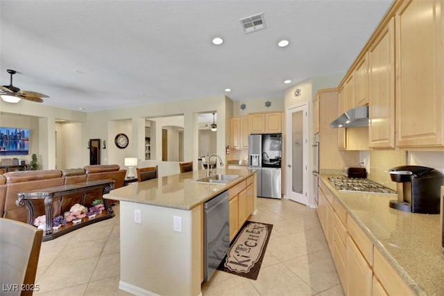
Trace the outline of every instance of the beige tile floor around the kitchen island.
<path fill-rule="evenodd" d="M 130 295 L 119 290 L 116 216 L 42 243 L 34 295 Z M 257 280 L 216 271 L 207 295 L 344 295 L 316 210 L 289 200 L 257 199 L 248 220 L 273 224 Z"/>

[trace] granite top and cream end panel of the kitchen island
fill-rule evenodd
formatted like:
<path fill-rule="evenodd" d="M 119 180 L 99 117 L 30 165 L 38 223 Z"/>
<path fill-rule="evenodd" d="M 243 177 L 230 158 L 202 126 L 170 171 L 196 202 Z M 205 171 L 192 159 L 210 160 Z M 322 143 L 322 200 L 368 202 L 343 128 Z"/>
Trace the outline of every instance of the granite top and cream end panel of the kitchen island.
<path fill-rule="evenodd" d="M 248 169 L 216 173 L 239 177 L 226 184 L 195 182 L 206 171 L 192 171 L 130 183 L 103 196 L 120 203 L 121 290 L 135 295 L 201 294 L 203 203 L 255 177 Z"/>

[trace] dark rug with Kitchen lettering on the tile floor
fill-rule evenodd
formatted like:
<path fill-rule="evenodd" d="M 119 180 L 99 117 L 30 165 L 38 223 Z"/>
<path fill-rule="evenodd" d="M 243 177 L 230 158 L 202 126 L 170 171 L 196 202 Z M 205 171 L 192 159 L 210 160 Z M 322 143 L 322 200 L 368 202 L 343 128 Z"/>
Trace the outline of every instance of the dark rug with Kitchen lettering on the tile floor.
<path fill-rule="evenodd" d="M 217 269 L 240 277 L 257 279 L 271 229 L 272 224 L 246 221 Z"/>

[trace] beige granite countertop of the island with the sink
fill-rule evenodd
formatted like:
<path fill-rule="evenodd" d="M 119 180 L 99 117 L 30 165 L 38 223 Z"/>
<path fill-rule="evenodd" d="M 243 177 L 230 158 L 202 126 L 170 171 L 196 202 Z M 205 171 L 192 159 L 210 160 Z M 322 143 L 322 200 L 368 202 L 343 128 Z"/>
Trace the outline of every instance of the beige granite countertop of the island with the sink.
<path fill-rule="evenodd" d="M 248 170 L 247 168 L 239 170 L 217 169 L 217 174 L 239 175 L 239 177 L 226 184 L 194 182 L 200 177 L 205 177 L 206 173 L 205 170 L 199 170 L 159 177 L 144 182 L 133 182 L 128 186 L 110 191 L 110 193 L 103 195 L 103 198 L 191 210 L 219 193 L 230 189 L 234 184 L 255 173 L 255 170 Z"/>

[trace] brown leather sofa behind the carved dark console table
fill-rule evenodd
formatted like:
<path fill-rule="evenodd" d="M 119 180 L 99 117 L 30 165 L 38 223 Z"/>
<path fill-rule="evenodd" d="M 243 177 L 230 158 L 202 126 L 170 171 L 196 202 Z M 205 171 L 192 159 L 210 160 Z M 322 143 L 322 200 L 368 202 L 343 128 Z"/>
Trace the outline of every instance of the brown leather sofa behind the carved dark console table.
<path fill-rule="evenodd" d="M 0 216 L 26 223 L 28 214 L 25 207 L 17 206 L 17 193 L 64 184 L 76 184 L 93 180 L 114 180 L 114 188 L 123 186 L 126 169 L 117 164 L 93 165 L 83 168 L 69 168 L 42 171 L 15 171 L 0 175 Z M 102 198 L 102 191 L 88 191 L 64 195 L 60 201 L 53 201 L 53 216 L 69 211 L 73 204 L 90 207 L 93 200 Z M 44 200 L 33 200 L 35 217 L 44 215 Z"/>

